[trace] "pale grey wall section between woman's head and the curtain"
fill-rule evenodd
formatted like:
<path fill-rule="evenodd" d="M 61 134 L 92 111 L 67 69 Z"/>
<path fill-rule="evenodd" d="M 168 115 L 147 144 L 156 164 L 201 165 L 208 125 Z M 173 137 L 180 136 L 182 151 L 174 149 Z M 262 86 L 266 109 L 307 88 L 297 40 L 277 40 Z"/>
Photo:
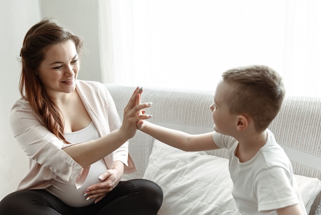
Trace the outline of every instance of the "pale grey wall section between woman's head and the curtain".
<path fill-rule="evenodd" d="M 85 44 L 78 79 L 102 82 L 99 57 L 98 1 L 39 0 L 41 16 L 56 18 L 73 33 L 83 36 Z"/>

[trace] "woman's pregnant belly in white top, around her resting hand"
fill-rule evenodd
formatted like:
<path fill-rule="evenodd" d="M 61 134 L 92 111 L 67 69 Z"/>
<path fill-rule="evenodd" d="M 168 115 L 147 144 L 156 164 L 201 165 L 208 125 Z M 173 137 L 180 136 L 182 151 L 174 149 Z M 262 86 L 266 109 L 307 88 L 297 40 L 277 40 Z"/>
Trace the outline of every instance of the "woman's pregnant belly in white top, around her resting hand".
<path fill-rule="evenodd" d="M 106 164 L 103 160 L 99 160 L 90 166 L 90 170 L 84 185 L 76 189 L 75 185 L 70 185 L 61 178 L 56 181 L 47 189 L 50 193 L 61 199 L 66 205 L 71 207 L 84 207 L 93 204 L 95 199 L 86 200 L 84 192 L 87 187 L 101 183 L 98 179 L 99 175 L 107 170 Z"/>

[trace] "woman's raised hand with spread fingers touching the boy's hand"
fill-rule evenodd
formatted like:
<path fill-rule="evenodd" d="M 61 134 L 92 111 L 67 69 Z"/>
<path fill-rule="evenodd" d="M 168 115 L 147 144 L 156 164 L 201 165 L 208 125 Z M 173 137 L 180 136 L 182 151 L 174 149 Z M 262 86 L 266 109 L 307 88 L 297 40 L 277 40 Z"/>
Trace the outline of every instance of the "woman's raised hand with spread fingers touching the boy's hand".
<path fill-rule="evenodd" d="M 128 139 L 132 138 L 137 131 L 138 121 L 143 121 L 150 119 L 152 116 L 148 114 L 143 114 L 144 108 L 148 108 L 152 103 L 142 103 L 141 104 L 141 94 L 143 88 L 137 87 L 133 92 L 127 106 L 124 109 L 123 124 L 119 131 L 122 131 Z"/>

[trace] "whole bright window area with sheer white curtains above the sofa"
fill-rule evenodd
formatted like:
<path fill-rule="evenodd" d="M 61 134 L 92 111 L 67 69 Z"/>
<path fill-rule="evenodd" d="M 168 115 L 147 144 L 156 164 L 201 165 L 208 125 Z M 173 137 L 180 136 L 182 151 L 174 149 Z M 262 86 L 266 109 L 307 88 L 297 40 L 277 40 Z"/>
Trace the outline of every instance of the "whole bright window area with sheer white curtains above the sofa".
<path fill-rule="evenodd" d="M 114 83 L 214 90 L 231 67 L 266 64 L 288 95 L 321 96 L 318 0 L 110 0 Z"/>

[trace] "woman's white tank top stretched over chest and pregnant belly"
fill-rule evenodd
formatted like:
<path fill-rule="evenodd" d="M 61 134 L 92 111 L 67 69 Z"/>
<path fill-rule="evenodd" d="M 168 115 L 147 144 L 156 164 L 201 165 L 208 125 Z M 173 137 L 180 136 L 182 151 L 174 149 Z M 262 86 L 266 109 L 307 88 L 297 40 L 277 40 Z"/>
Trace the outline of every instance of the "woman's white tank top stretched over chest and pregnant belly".
<path fill-rule="evenodd" d="M 91 122 L 86 128 L 71 132 L 65 133 L 65 138 L 71 144 L 87 142 L 91 140 L 98 139 L 99 133 Z M 89 169 L 89 173 L 87 179 L 82 187 L 76 189 L 75 185 L 68 184 L 66 181 L 61 179 L 60 177 L 56 177 L 55 182 L 47 187 L 46 190 L 56 197 L 61 199 L 65 204 L 71 207 L 84 207 L 94 203 L 95 199 L 90 199 L 86 201 L 86 197 L 84 197 L 84 192 L 87 187 L 94 185 L 96 183 L 101 182 L 98 177 L 102 173 L 107 170 L 107 166 L 103 159 L 97 161 L 92 164 Z"/>

